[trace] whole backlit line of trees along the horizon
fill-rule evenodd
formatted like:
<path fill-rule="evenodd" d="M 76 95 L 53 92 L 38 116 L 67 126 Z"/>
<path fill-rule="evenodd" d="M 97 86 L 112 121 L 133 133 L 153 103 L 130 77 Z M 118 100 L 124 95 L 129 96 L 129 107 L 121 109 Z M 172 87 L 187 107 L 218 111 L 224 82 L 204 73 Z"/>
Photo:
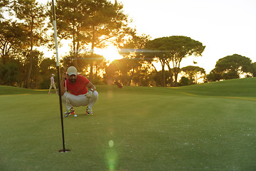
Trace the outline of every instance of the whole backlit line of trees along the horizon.
<path fill-rule="evenodd" d="M 151 40 L 149 35 L 138 35 L 136 29 L 129 28 L 129 16 L 117 1 L 55 2 L 58 41 L 70 41 L 72 49 L 60 64 L 77 67 L 95 84 L 117 81 L 127 86 L 186 86 L 198 83 L 199 78 L 207 82 L 239 78 L 242 73 L 255 76 L 255 63 L 238 54 L 217 61 L 207 76 L 198 66 L 180 68 L 183 58 L 202 56 L 206 46 L 186 36 Z M 55 58 L 43 56 L 38 47 L 53 49 L 52 20 L 50 2 L 0 2 L 1 85 L 48 88 L 51 73 L 56 73 Z M 104 48 L 109 43 L 129 51 L 120 51 L 124 58 L 108 65 L 94 49 Z M 91 51 L 80 51 L 86 48 Z M 156 70 L 156 63 L 161 64 L 161 71 Z M 185 79 L 179 80 L 178 74 Z"/>

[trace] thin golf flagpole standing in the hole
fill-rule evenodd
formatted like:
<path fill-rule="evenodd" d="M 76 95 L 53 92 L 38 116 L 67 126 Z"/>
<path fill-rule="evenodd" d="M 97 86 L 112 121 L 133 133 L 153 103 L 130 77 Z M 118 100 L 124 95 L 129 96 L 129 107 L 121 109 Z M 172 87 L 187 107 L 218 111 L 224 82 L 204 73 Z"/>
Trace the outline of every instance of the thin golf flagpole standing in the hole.
<path fill-rule="evenodd" d="M 68 152 L 70 150 L 65 149 L 65 138 L 64 138 L 64 125 L 63 125 L 63 106 L 61 100 L 61 89 L 60 89 L 60 64 L 58 59 L 58 41 L 57 41 L 57 25 L 55 19 L 55 8 L 54 8 L 54 0 L 52 0 L 53 4 L 53 28 L 54 28 L 54 40 L 55 40 L 55 51 L 56 51 L 56 63 L 57 63 L 57 71 L 58 71 L 58 89 L 59 89 L 59 100 L 60 100 L 60 118 L 61 118 L 61 128 L 62 128 L 62 136 L 63 136 L 63 150 L 59 150 L 59 152 Z"/>

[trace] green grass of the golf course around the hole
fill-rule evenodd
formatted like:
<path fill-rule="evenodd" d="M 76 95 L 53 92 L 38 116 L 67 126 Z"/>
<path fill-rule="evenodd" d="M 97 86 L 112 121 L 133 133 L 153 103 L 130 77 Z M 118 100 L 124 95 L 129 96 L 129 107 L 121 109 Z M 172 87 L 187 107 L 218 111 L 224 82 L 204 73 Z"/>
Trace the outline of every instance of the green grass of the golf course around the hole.
<path fill-rule="evenodd" d="M 58 95 L 0 86 L 0 170 L 256 170 L 255 82 L 97 86 L 95 115 L 64 118 L 68 153 Z"/>

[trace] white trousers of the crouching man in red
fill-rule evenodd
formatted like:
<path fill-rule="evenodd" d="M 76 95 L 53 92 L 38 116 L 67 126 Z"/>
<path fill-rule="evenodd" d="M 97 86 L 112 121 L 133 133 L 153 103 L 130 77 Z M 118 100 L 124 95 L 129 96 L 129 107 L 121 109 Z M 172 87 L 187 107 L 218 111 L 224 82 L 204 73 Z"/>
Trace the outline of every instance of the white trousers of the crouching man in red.
<path fill-rule="evenodd" d="M 79 107 L 88 105 L 88 108 L 92 108 L 92 105 L 97 101 L 98 93 L 93 91 L 92 97 L 87 98 L 85 94 L 83 95 L 73 95 L 71 93 L 65 92 L 62 96 L 62 102 L 65 105 L 65 108 L 69 110 L 71 107 Z"/>

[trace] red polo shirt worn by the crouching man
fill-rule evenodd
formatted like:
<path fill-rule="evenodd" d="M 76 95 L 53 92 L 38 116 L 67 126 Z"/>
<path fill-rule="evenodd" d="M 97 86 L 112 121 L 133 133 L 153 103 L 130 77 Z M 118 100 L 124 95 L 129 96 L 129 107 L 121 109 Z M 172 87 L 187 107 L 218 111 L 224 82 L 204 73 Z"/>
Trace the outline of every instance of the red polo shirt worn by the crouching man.
<path fill-rule="evenodd" d="M 85 94 L 88 91 L 86 85 L 89 82 L 90 81 L 87 78 L 85 78 L 85 76 L 78 75 L 75 83 L 71 83 L 69 79 L 67 79 L 67 90 L 73 95 Z"/>

